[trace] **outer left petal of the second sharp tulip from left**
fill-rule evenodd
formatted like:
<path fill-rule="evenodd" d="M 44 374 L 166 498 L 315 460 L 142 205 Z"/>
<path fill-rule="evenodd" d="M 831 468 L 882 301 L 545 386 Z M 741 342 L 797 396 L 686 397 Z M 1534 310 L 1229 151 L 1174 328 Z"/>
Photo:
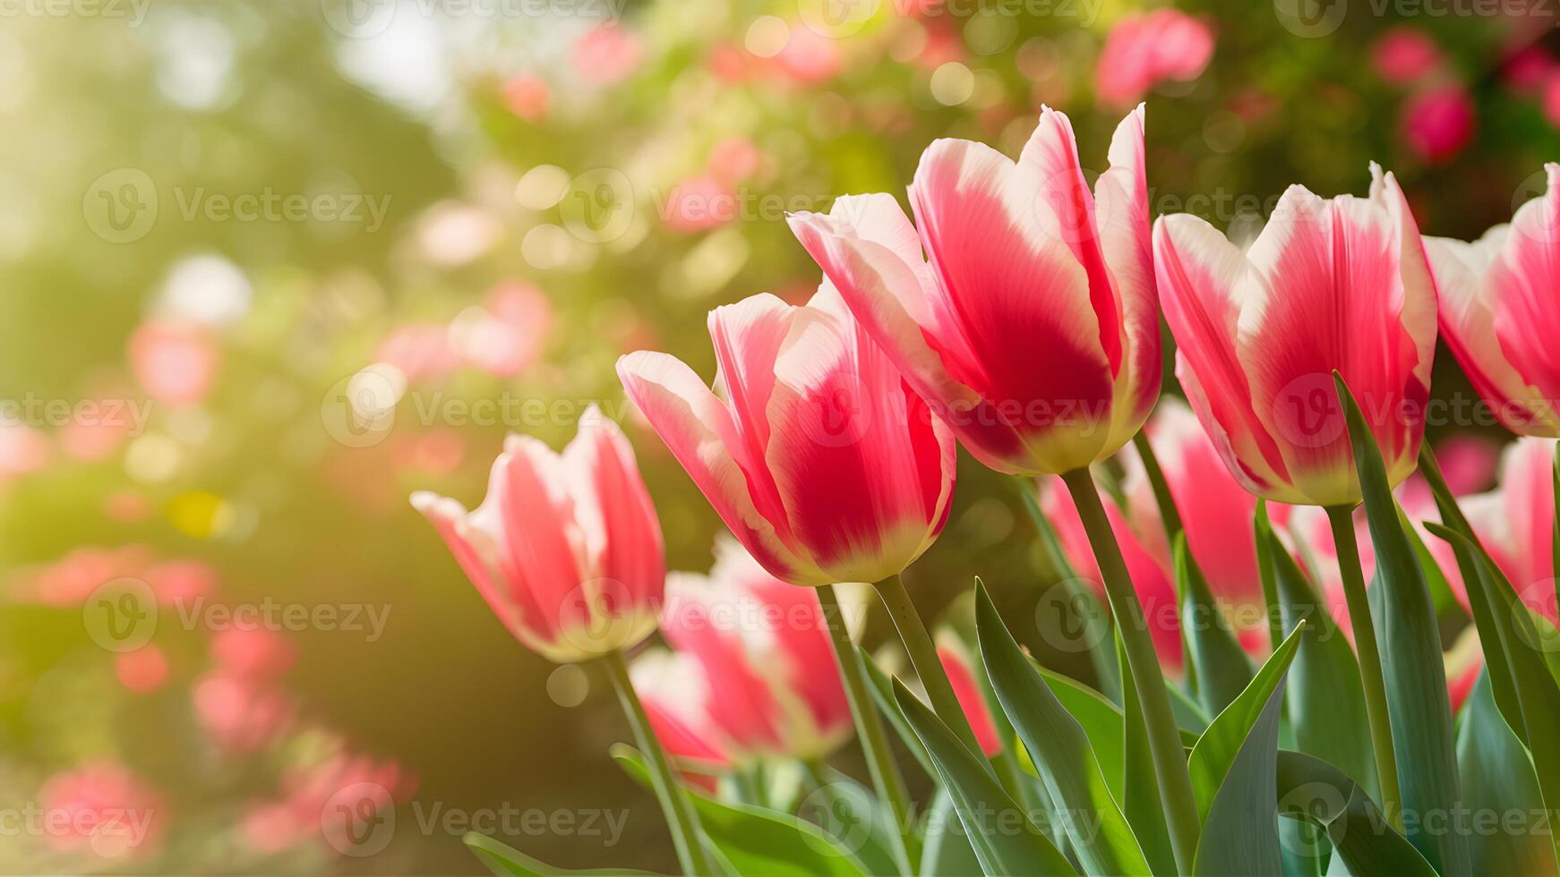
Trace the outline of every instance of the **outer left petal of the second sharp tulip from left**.
<path fill-rule="evenodd" d="M 749 477 L 732 455 L 738 442 L 732 414 L 693 369 L 666 354 L 640 350 L 618 360 L 618 377 L 721 520 L 764 569 L 788 581 L 817 572 L 758 512 Z"/>

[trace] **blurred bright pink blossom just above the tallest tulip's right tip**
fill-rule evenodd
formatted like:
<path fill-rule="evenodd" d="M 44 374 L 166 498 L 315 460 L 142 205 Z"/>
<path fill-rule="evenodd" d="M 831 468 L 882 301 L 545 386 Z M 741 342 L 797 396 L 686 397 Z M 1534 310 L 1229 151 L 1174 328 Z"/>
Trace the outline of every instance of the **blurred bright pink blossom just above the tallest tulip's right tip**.
<path fill-rule="evenodd" d="M 1131 106 L 1165 79 L 1192 81 L 1214 56 L 1214 31 L 1176 9 L 1125 16 L 1111 28 L 1095 67 L 1100 100 Z"/>

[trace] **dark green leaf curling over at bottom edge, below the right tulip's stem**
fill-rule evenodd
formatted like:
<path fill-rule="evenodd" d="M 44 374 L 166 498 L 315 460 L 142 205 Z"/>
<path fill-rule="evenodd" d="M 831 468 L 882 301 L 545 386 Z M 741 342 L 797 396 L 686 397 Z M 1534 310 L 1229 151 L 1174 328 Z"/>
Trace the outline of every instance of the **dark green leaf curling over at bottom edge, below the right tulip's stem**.
<path fill-rule="evenodd" d="M 1353 877 L 1435 877 L 1431 863 L 1387 824 L 1365 790 L 1315 755 L 1279 749 L 1278 812 L 1324 829 Z"/>

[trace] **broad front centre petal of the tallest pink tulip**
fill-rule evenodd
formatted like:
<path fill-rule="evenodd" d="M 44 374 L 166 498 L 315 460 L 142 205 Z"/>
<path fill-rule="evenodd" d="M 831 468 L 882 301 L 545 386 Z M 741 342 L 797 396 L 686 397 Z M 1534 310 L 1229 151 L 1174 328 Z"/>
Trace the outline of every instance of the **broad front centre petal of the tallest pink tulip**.
<path fill-rule="evenodd" d="M 980 352 L 978 368 L 953 377 L 1019 430 L 1034 470 L 1064 472 L 1109 438 L 1112 374 L 1087 273 L 1041 185 L 1034 167 L 989 146 L 938 140 L 916 168 L 911 209 L 938 279 L 936 322 Z"/>

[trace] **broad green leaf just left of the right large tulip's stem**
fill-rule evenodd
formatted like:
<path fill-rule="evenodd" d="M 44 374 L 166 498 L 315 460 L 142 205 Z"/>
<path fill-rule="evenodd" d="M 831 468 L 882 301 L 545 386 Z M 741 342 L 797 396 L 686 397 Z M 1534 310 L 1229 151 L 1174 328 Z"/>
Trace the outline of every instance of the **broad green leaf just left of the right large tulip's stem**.
<path fill-rule="evenodd" d="M 1338 765 L 1349 776 L 1368 777 L 1367 791 L 1374 794 L 1376 757 L 1354 650 L 1295 558 L 1271 531 L 1262 537 L 1268 541 L 1267 556 L 1273 564 L 1284 631 L 1293 631 L 1306 620 L 1285 685 L 1295 748 Z"/>

